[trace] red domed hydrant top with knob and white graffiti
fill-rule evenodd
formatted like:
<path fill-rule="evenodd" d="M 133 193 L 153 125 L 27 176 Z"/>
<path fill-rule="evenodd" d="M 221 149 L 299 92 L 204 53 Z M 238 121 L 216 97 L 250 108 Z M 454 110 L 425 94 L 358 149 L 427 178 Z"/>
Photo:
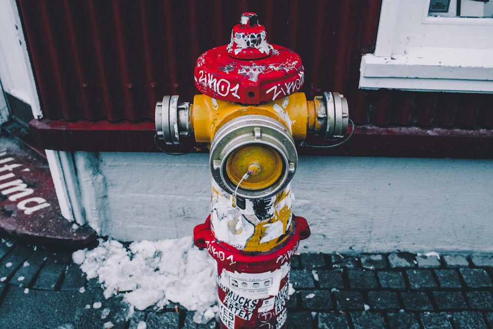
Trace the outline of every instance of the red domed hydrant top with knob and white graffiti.
<path fill-rule="evenodd" d="M 197 59 L 194 79 L 207 96 L 252 105 L 297 92 L 305 72 L 300 56 L 269 44 L 257 14 L 245 12 L 228 45 L 212 48 Z"/>

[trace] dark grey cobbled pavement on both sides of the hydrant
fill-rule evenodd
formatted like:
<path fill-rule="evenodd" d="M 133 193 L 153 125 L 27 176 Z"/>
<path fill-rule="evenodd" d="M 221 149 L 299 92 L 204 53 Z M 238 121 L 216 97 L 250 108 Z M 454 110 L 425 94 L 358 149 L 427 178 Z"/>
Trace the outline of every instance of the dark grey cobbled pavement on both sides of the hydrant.
<path fill-rule="evenodd" d="M 105 299 L 71 250 L 0 239 L 0 328 L 218 328 L 178 304 L 127 319 L 122 293 Z M 492 255 L 294 255 L 288 328 L 492 329 L 492 278 Z"/>

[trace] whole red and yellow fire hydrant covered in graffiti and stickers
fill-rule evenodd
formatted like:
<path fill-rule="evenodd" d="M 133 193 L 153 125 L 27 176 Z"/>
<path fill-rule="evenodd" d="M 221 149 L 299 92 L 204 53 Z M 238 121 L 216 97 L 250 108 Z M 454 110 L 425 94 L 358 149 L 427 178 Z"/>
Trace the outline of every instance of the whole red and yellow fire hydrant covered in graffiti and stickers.
<path fill-rule="evenodd" d="M 195 137 L 210 145 L 211 214 L 194 243 L 217 262 L 221 328 L 279 329 L 286 323 L 291 256 L 310 236 L 292 214 L 296 143 L 307 132 L 343 137 L 348 105 L 338 93 L 307 101 L 294 51 L 267 42 L 255 13 L 243 13 L 231 42 L 203 53 L 193 104 L 165 96 L 156 130 L 166 144 Z"/>

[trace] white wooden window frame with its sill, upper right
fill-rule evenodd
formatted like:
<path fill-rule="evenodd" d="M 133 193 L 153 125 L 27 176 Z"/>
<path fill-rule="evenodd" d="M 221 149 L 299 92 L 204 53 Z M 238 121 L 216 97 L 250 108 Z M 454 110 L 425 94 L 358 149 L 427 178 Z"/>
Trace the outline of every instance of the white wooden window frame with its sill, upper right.
<path fill-rule="evenodd" d="M 359 87 L 493 93 L 493 18 L 428 17 L 430 0 L 383 0 Z"/>

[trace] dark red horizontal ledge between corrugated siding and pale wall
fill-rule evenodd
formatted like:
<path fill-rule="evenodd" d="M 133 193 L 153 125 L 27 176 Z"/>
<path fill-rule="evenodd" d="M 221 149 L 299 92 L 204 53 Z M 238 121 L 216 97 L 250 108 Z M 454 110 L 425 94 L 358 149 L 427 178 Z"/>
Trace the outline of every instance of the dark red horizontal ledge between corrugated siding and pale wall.
<path fill-rule="evenodd" d="M 36 146 L 65 151 L 168 152 L 207 151 L 192 138 L 178 146 L 156 141 L 154 122 L 35 120 Z M 349 128 L 351 129 L 351 127 Z M 157 143 L 157 145 L 156 145 Z M 334 144 L 337 142 L 334 142 Z M 307 145 L 330 145 L 309 135 Z M 159 146 L 159 147 L 158 147 Z M 493 129 L 356 126 L 350 140 L 333 148 L 299 146 L 299 154 L 437 158 L 493 158 Z"/>

